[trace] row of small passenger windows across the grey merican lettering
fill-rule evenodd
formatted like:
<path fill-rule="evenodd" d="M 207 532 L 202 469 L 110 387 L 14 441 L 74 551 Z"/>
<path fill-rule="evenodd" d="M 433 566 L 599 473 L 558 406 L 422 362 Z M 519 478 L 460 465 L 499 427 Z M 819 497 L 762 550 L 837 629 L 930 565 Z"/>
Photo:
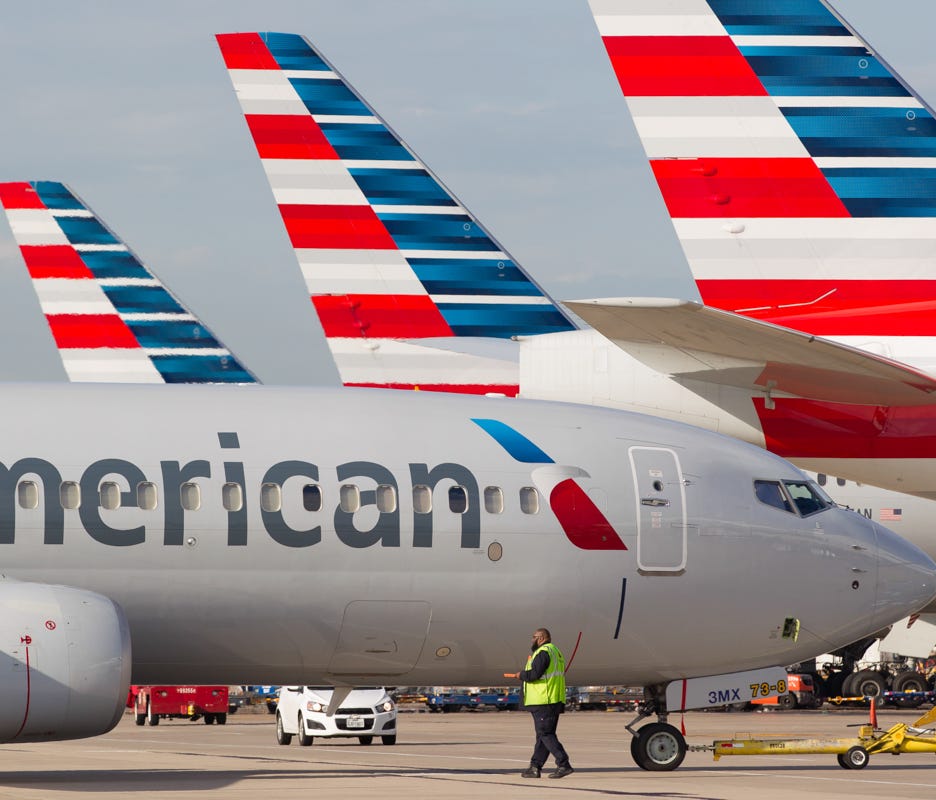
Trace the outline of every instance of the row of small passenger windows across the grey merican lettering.
<path fill-rule="evenodd" d="M 98 489 L 101 508 L 114 510 L 121 507 L 120 485 L 113 481 L 102 481 Z M 39 484 L 36 481 L 20 481 L 16 486 L 16 498 L 20 508 L 39 507 Z M 195 482 L 183 483 L 179 487 L 179 502 L 186 511 L 201 508 L 201 487 Z M 374 492 L 377 510 L 393 513 L 397 510 L 397 491 L 393 486 L 381 484 Z M 81 505 L 81 487 L 75 481 L 64 481 L 59 486 L 59 503 L 62 508 L 76 509 Z M 302 507 L 306 511 L 320 511 L 324 504 L 322 487 L 307 483 L 302 487 Z M 136 507 L 152 511 L 159 505 L 159 494 L 155 483 L 143 481 L 136 485 Z M 221 505 L 226 511 L 240 511 L 244 507 L 244 487 L 239 483 L 225 483 L 221 487 Z M 361 489 L 353 483 L 343 484 L 338 489 L 338 505 L 342 511 L 353 514 L 361 508 Z M 283 507 L 283 487 L 278 483 L 264 483 L 260 487 L 260 508 L 277 512 Z M 464 486 L 452 486 L 448 490 L 448 507 L 455 514 L 468 511 L 468 490 Z M 417 514 L 432 513 L 432 488 L 413 487 L 413 510 Z M 504 511 L 504 490 L 500 486 L 484 488 L 484 510 L 489 514 Z M 538 514 L 539 492 L 532 486 L 520 489 L 520 510 L 524 514 Z"/>

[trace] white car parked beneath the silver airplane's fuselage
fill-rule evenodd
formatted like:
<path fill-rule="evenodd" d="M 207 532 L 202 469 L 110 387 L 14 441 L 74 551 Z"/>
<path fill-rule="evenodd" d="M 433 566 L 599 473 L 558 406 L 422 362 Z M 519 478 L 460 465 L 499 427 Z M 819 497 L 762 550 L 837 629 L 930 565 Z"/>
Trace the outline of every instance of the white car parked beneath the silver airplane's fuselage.
<path fill-rule="evenodd" d="M 371 744 L 379 736 L 384 744 L 396 744 L 396 704 L 386 689 L 352 689 L 331 716 L 329 686 L 283 686 L 276 709 L 276 741 L 289 744 L 292 737 L 308 747 L 318 737 L 357 737 Z"/>

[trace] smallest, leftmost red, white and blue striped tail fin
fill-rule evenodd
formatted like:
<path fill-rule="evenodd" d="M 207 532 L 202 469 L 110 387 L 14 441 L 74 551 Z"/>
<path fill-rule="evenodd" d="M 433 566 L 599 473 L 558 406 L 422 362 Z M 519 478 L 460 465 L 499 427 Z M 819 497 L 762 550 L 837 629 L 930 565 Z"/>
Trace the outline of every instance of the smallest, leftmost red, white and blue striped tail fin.
<path fill-rule="evenodd" d="M 64 184 L 0 183 L 0 203 L 72 381 L 255 382 Z"/>

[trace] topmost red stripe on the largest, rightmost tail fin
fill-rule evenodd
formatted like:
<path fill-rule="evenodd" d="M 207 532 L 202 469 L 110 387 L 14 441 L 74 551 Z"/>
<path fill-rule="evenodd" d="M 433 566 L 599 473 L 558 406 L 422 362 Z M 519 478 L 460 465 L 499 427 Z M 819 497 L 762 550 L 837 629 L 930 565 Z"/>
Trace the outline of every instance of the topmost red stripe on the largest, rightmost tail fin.
<path fill-rule="evenodd" d="M 760 79 L 728 36 L 605 36 L 625 95 L 752 97 Z"/>

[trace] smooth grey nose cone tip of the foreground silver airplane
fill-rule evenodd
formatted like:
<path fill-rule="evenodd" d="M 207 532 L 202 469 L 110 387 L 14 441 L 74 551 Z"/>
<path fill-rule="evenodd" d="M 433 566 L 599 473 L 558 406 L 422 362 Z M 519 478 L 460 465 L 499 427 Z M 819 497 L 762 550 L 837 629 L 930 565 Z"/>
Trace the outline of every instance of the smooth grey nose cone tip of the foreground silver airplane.
<path fill-rule="evenodd" d="M 936 597 L 936 562 L 883 525 L 872 523 L 878 545 L 875 617 L 891 625 Z"/>

